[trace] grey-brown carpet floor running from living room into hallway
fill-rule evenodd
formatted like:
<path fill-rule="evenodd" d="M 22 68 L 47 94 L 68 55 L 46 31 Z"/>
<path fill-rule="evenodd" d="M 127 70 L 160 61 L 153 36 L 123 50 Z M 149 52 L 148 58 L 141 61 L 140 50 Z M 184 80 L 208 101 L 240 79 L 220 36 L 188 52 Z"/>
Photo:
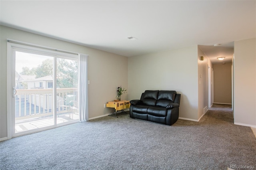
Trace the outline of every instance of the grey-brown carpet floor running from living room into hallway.
<path fill-rule="evenodd" d="M 256 138 L 229 105 L 172 126 L 117 115 L 2 141 L 0 170 L 256 169 Z"/>

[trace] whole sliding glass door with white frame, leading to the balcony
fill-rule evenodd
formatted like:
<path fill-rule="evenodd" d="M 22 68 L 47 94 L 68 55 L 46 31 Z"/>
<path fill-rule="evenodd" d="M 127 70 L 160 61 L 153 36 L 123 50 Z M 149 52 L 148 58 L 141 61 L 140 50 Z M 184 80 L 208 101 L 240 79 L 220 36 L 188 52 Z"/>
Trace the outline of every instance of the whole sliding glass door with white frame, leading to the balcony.
<path fill-rule="evenodd" d="M 12 136 L 78 122 L 78 55 L 10 47 Z"/>

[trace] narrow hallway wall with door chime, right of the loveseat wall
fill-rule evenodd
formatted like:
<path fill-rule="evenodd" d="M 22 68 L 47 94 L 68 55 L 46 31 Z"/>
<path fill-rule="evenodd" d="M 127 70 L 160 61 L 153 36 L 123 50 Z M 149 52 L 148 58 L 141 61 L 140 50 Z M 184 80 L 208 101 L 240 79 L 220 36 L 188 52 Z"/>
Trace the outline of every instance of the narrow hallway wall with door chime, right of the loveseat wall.
<path fill-rule="evenodd" d="M 200 56 L 204 60 L 200 60 Z M 198 47 L 198 119 L 208 111 L 208 65 L 210 60 Z"/>

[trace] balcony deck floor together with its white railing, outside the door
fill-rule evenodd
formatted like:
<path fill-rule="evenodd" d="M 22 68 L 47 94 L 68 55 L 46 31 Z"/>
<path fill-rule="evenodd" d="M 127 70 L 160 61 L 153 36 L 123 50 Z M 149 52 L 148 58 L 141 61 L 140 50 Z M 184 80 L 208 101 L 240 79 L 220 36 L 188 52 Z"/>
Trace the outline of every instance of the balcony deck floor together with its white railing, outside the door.
<path fill-rule="evenodd" d="M 79 120 L 78 108 L 60 105 L 67 95 L 77 89 L 57 89 L 57 124 Z M 15 95 L 15 132 L 54 125 L 52 89 L 17 89 Z M 72 111 L 74 112 L 72 114 Z"/>

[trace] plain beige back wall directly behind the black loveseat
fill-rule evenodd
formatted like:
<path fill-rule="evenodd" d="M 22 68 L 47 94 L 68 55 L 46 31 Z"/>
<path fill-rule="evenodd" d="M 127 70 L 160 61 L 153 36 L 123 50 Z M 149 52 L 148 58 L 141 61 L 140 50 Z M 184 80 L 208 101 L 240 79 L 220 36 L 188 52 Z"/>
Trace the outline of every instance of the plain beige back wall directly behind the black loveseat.
<path fill-rule="evenodd" d="M 181 93 L 180 118 L 198 120 L 198 46 L 128 57 L 128 99 L 145 90 Z"/>

